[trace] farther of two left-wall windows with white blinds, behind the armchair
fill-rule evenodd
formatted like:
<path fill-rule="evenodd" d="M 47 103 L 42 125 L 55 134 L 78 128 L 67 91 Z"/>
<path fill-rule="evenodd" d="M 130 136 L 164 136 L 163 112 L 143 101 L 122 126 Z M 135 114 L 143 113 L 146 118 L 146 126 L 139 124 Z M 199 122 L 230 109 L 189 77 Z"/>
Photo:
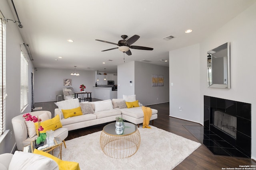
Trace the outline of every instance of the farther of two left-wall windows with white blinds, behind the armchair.
<path fill-rule="evenodd" d="M 28 61 L 20 52 L 20 111 L 28 105 Z"/>

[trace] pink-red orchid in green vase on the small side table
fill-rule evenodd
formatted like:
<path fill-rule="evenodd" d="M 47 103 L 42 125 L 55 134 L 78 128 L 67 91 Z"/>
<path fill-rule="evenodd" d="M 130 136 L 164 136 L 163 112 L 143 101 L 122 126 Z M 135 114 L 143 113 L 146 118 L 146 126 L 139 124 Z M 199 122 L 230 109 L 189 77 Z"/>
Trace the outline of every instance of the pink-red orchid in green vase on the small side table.
<path fill-rule="evenodd" d="M 44 128 L 40 125 L 42 120 L 38 119 L 36 116 L 32 116 L 30 113 L 26 113 L 22 117 L 24 117 L 25 121 L 33 121 L 34 123 L 38 122 L 38 138 L 36 139 L 36 144 L 39 145 L 40 143 L 44 142 L 46 139 L 46 134 L 40 133 L 40 131 L 44 130 Z"/>

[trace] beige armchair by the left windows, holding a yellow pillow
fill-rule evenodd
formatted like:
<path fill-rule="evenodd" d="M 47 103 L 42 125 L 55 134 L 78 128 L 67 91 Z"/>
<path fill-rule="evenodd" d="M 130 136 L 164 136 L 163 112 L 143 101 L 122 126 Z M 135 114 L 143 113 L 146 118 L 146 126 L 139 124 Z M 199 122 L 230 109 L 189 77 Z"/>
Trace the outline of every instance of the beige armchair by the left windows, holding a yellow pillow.
<path fill-rule="evenodd" d="M 51 119 L 52 113 L 50 111 L 34 111 L 34 112 L 31 112 L 30 114 L 32 116 L 39 116 L 45 112 L 48 115 L 48 119 Z M 30 142 L 34 141 L 35 138 L 37 137 L 37 135 L 34 135 L 31 138 L 28 136 L 28 130 L 27 130 L 27 127 L 25 124 L 25 120 L 22 116 L 23 116 L 23 114 L 12 118 L 12 127 L 13 127 L 14 136 L 15 136 L 16 145 L 17 145 L 18 150 L 23 150 L 24 146 L 29 145 Z M 67 128 L 61 127 L 59 129 L 56 129 L 54 131 L 54 137 L 60 137 L 60 139 L 63 141 L 64 146 L 66 148 L 64 139 L 66 139 L 66 137 L 68 137 L 68 129 Z"/>

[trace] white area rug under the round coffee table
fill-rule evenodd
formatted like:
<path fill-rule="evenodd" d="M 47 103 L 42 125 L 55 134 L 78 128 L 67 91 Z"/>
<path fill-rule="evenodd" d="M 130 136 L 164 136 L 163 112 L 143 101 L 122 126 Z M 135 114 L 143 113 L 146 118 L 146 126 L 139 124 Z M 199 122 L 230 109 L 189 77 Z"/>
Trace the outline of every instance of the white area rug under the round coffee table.
<path fill-rule="evenodd" d="M 139 128 L 140 148 L 131 157 L 106 156 L 100 148 L 100 131 L 65 141 L 67 148 L 62 147 L 62 160 L 78 162 L 81 170 L 171 170 L 201 145 L 157 127 L 151 128 Z"/>

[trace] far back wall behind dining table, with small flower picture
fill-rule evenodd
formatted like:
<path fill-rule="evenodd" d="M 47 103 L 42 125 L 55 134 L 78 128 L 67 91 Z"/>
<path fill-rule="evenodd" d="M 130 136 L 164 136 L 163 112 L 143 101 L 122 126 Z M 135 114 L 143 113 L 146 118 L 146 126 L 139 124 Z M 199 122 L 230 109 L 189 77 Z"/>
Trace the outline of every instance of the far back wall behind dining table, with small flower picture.
<path fill-rule="evenodd" d="M 37 68 L 34 73 L 34 94 L 35 103 L 56 101 L 56 95 L 63 94 L 62 88 L 73 87 L 75 92 L 80 92 L 80 85 L 86 86 L 86 92 L 92 92 L 94 97 L 95 72 L 80 71 L 80 76 L 71 76 L 74 70 L 52 69 L 52 68 Z M 64 86 L 64 78 L 72 79 L 72 86 Z M 50 98 L 51 96 L 51 98 Z M 81 96 L 80 96 L 81 97 Z"/>

